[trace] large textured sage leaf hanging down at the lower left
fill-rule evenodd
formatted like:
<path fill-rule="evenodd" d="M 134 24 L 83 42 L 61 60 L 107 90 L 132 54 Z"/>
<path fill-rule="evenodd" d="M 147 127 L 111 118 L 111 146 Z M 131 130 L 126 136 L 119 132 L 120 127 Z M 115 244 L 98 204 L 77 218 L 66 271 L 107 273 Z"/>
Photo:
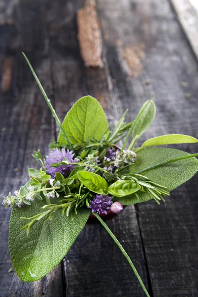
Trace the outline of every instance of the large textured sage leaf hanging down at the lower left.
<path fill-rule="evenodd" d="M 58 204 L 55 198 L 51 202 Z M 41 210 L 43 205 L 43 201 L 36 199 L 32 205 L 23 205 L 11 213 L 9 251 L 14 270 L 24 282 L 41 279 L 62 260 L 90 214 L 90 209 L 80 208 L 71 221 L 58 210 L 51 220 L 41 220 L 33 225 L 27 236 L 26 230 L 20 229 L 29 221 L 20 217 L 31 217 L 44 211 Z"/>

